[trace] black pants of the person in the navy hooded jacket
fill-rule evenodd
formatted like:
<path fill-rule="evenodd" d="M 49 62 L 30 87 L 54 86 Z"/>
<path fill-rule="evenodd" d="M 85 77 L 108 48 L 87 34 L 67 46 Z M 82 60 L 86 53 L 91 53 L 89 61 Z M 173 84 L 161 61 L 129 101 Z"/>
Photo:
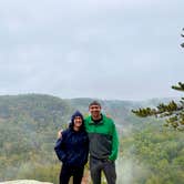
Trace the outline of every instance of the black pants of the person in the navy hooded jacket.
<path fill-rule="evenodd" d="M 84 166 L 69 166 L 62 165 L 60 173 L 60 184 L 68 184 L 71 176 L 73 176 L 73 184 L 81 184 Z"/>

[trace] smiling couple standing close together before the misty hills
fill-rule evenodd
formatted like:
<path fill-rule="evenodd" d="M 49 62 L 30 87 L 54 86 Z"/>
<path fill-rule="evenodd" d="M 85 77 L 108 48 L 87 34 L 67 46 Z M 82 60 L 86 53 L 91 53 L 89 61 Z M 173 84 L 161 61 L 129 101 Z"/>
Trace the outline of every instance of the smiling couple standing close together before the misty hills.
<path fill-rule="evenodd" d="M 59 132 L 55 153 L 62 162 L 60 184 L 68 184 L 73 176 L 73 184 L 80 184 L 84 165 L 90 153 L 90 173 L 93 184 L 101 184 L 104 172 L 108 184 L 115 184 L 115 160 L 119 139 L 112 119 L 101 113 L 101 104 L 93 101 L 89 105 L 90 115 L 84 120 L 76 111 L 67 130 Z"/>

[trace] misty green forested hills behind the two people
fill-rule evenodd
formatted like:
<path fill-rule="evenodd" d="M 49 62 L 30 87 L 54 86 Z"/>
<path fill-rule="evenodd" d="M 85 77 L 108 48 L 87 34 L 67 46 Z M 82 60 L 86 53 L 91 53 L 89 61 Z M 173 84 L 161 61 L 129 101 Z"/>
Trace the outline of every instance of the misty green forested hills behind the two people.
<path fill-rule="evenodd" d="M 0 182 L 33 178 L 58 184 L 61 163 L 53 151 L 57 132 L 68 126 L 73 111 L 86 115 L 91 100 L 41 94 L 0 96 Z M 119 131 L 119 184 L 183 183 L 183 132 L 163 126 L 164 120 L 140 119 L 131 112 L 154 106 L 159 99 L 100 102 Z"/>

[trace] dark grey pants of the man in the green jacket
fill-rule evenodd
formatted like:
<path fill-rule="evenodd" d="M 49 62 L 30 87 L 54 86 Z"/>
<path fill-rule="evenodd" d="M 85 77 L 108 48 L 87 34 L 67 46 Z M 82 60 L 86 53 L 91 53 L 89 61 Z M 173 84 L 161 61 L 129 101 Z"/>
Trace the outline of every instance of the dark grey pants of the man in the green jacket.
<path fill-rule="evenodd" d="M 101 184 L 101 173 L 104 172 L 108 184 L 115 184 L 115 163 L 90 157 L 90 172 L 93 184 Z"/>

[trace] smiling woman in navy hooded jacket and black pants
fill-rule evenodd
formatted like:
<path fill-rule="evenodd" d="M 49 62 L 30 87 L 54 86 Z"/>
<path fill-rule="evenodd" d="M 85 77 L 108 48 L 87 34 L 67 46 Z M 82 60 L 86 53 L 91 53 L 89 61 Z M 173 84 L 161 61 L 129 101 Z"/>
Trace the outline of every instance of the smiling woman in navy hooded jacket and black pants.
<path fill-rule="evenodd" d="M 69 129 L 62 132 L 54 150 L 62 162 L 60 184 L 68 184 L 71 176 L 73 176 L 73 184 L 80 184 L 88 162 L 89 139 L 83 115 L 79 111 L 71 116 Z"/>

